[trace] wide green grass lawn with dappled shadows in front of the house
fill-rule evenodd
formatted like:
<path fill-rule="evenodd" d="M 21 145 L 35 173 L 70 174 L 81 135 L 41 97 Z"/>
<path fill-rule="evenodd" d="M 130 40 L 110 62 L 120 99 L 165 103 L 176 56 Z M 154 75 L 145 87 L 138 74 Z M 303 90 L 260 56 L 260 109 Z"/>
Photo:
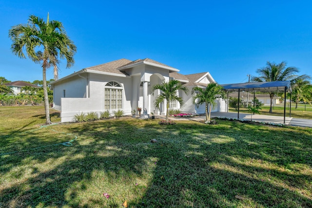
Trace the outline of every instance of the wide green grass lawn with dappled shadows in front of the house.
<path fill-rule="evenodd" d="M 158 121 L 0 107 L 0 207 L 312 207 L 311 128 Z"/>

